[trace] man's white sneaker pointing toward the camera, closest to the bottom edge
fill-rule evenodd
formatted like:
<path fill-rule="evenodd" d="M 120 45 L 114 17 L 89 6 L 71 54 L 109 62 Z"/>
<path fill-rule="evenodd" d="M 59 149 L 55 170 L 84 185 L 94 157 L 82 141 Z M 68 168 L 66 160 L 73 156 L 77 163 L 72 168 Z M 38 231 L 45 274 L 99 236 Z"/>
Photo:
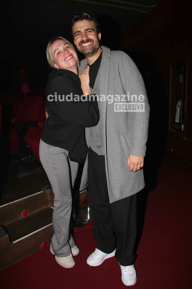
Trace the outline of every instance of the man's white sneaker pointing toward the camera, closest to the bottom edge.
<path fill-rule="evenodd" d="M 120 265 L 120 264 L 119 264 Z M 137 275 L 134 265 L 121 267 L 121 279 L 126 286 L 132 286 L 137 282 Z"/>

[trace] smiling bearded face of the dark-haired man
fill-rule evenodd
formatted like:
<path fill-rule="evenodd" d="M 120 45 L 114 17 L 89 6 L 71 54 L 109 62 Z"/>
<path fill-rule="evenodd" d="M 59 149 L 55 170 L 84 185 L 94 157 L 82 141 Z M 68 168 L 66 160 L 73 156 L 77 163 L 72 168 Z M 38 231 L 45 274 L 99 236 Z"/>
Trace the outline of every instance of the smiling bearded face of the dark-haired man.
<path fill-rule="evenodd" d="M 93 21 L 82 20 L 73 25 L 74 43 L 81 53 L 90 57 L 95 55 L 99 49 L 101 33 L 97 34 Z"/>

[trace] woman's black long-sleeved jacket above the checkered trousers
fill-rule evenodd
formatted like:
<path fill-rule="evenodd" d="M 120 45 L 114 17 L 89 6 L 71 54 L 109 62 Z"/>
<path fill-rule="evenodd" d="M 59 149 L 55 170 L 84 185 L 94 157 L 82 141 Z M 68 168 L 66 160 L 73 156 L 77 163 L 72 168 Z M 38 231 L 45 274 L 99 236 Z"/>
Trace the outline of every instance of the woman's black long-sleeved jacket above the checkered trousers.
<path fill-rule="evenodd" d="M 80 78 L 66 69 L 54 69 L 49 74 L 45 92 L 49 116 L 44 123 L 41 139 L 47 144 L 71 151 L 82 128 L 93 127 L 99 122 L 97 100 L 83 101 Z"/>

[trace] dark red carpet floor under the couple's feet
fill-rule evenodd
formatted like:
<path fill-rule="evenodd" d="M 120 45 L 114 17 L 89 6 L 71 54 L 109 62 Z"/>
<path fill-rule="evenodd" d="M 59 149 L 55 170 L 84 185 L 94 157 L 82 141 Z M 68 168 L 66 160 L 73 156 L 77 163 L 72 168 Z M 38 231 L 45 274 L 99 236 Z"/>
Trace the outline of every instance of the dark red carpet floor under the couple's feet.
<path fill-rule="evenodd" d="M 148 194 L 142 238 L 135 262 L 134 289 L 191 289 L 192 167 L 164 158 L 157 186 Z M 80 253 L 74 268 L 54 260 L 49 246 L 0 272 L 1 289 L 125 289 L 112 257 L 98 267 L 86 264 L 97 244 L 92 221 L 74 232 Z"/>

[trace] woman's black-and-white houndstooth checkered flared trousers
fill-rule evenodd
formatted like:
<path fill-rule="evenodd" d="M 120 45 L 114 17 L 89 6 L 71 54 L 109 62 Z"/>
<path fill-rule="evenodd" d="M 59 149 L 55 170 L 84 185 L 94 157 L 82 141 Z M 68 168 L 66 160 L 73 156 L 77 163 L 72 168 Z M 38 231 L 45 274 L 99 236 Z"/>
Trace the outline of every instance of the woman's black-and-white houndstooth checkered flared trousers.
<path fill-rule="evenodd" d="M 54 192 L 52 249 L 56 256 L 66 257 L 75 246 L 70 232 L 72 210 L 71 182 L 74 186 L 78 163 L 68 158 L 68 151 L 40 140 L 39 157 Z"/>

